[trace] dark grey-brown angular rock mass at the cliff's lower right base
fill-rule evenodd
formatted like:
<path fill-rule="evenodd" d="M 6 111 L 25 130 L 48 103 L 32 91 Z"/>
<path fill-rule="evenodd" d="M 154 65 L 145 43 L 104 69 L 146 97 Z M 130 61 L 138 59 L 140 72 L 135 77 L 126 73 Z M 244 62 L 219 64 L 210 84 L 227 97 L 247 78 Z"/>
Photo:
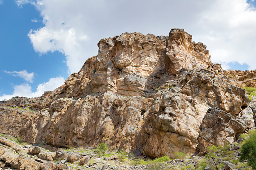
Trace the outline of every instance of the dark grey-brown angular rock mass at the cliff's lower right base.
<path fill-rule="evenodd" d="M 247 123 L 238 117 L 218 109 L 210 108 L 201 124 L 197 153 L 204 155 L 209 145 L 224 145 L 236 141 L 247 128 Z"/>

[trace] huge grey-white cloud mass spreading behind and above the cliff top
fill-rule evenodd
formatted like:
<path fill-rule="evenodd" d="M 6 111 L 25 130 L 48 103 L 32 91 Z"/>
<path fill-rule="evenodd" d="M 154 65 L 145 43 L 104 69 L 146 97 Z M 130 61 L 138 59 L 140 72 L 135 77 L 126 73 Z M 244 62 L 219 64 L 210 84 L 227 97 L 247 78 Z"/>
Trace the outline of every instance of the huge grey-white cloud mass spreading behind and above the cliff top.
<path fill-rule="evenodd" d="M 167 35 L 172 28 L 184 28 L 193 41 L 206 44 L 213 62 L 256 68 L 253 1 L 17 1 L 19 6 L 27 3 L 43 17 L 44 27 L 28 34 L 35 51 L 60 51 L 66 56 L 69 73 L 77 72 L 87 58 L 97 54 L 102 38 L 135 31 Z"/>

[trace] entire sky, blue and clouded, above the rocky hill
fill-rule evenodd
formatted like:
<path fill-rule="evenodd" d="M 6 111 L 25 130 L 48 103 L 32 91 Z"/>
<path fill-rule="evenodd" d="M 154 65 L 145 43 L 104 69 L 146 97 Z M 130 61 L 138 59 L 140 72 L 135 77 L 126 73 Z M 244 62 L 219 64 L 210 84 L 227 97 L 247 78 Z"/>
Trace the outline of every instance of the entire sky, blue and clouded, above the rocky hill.
<path fill-rule="evenodd" d="M 0 0 L 0 100 L 62 85 L 102 38 L 184 28 L 224 69 L 256 69 L 256 2 Z"/>

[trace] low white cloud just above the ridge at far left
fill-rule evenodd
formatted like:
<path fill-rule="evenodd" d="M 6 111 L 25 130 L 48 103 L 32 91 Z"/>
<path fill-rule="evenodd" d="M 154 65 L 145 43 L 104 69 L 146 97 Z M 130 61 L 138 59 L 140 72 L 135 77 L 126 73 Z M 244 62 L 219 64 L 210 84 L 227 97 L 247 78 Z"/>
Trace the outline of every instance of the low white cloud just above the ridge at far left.
<path fill-rule="evenodd" d="M 0 101 L 5 99 L 8 100 L 15 96 L 38 97 L 38 96 L 41 96 L 44 93 L 44 91 L 52 91 L 55 88 L 63 85 L 64 81 L 65 80 L 63 77 L 51 78 L 48 82 L 39 84 L 35 92 L 32 92 L 32 87 L 28 83 L 16 85 L 14 86 L 13 94 L 9 94 L 9 95 L 5 94 L 3 96 L 0 96 Z"/>

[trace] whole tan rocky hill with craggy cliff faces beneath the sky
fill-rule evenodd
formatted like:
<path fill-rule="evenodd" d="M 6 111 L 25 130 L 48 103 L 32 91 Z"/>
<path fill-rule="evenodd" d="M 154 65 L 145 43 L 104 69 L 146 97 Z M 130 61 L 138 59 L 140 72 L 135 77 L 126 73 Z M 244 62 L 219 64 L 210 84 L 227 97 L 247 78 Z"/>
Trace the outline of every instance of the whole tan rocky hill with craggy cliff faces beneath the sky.
<path fill-rule="evenodd" d="M 207 146 L 255 128 L 256 103 L 241 87 L 256 87 L 256 70 L 223 70 L 183 29 L 159 37 L 123 33 L 98 46 L 98 55 L 54 91 L 1 101 L 0 132 L 31 144 L 104 142 L 137 156 L 174 158 L 177 151 L 204 155 Z"/>

